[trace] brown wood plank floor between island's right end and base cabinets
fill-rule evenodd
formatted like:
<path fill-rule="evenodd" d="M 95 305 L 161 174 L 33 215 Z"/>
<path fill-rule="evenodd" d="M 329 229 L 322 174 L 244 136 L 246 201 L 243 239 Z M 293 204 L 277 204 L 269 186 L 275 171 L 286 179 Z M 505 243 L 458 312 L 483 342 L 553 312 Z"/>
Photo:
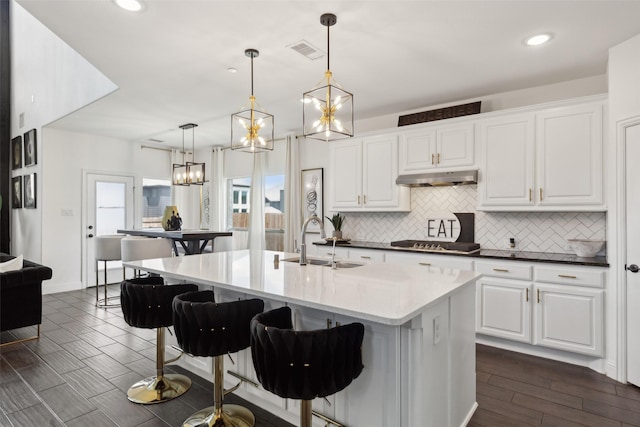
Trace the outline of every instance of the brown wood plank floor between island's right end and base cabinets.
<path fill-rule="evenodd" d="M 640 388 L 591 369 L 477 345 L 469 427 L 640 426 Z"/>

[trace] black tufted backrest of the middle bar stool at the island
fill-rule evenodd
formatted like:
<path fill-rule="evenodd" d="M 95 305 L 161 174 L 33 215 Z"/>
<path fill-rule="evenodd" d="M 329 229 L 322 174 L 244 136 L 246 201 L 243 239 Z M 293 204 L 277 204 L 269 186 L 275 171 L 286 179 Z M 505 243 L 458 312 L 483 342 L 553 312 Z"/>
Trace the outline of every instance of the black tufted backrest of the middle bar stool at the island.
<path fill-rule="evenodd" d="M 260 299 L 216 303 L 213 291 L 179 295 L 173 324 L 180 347 L 194 356 L 219 356 L 249 347 L 251 319 L 264 310 Z"/>

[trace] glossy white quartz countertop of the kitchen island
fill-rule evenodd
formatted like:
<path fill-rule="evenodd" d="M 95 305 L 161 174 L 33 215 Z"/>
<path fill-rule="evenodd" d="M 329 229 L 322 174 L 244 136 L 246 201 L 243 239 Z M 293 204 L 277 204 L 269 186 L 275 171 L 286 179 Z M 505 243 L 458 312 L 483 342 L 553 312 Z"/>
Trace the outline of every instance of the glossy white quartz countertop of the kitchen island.
<path fill-rule="evenodd" d="M 274 263 L 276 254 L 280 258 L 278 263 Z M 384 262 L 332 270 L 283 261 L 297 256 L 242 250 L 131 261 L 124 265 L 387 325 L 406 323 L 429 305 L 480 277 L 472 271 Z"/>

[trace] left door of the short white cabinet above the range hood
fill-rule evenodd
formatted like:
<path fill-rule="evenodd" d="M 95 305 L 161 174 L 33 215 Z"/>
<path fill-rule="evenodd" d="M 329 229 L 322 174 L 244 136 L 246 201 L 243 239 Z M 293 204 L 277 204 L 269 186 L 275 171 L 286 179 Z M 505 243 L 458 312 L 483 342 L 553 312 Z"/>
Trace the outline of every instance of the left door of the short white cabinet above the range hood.
<path fill-rule="evenodd" d="M 433 128 L 403 132 L 399 142 L 401 174 L 419 173 L 436 167 L 436 131 Z"/>

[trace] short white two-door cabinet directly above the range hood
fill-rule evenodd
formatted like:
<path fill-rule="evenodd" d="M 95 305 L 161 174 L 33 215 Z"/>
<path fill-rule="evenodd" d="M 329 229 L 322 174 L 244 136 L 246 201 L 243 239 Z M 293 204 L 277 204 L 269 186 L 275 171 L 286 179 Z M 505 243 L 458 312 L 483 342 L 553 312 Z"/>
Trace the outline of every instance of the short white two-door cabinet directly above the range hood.
<path fill-rule="evenodd" d="M 473 124 L 429 126 L 400 133 L 400 174 L 474 165 Z"/>

